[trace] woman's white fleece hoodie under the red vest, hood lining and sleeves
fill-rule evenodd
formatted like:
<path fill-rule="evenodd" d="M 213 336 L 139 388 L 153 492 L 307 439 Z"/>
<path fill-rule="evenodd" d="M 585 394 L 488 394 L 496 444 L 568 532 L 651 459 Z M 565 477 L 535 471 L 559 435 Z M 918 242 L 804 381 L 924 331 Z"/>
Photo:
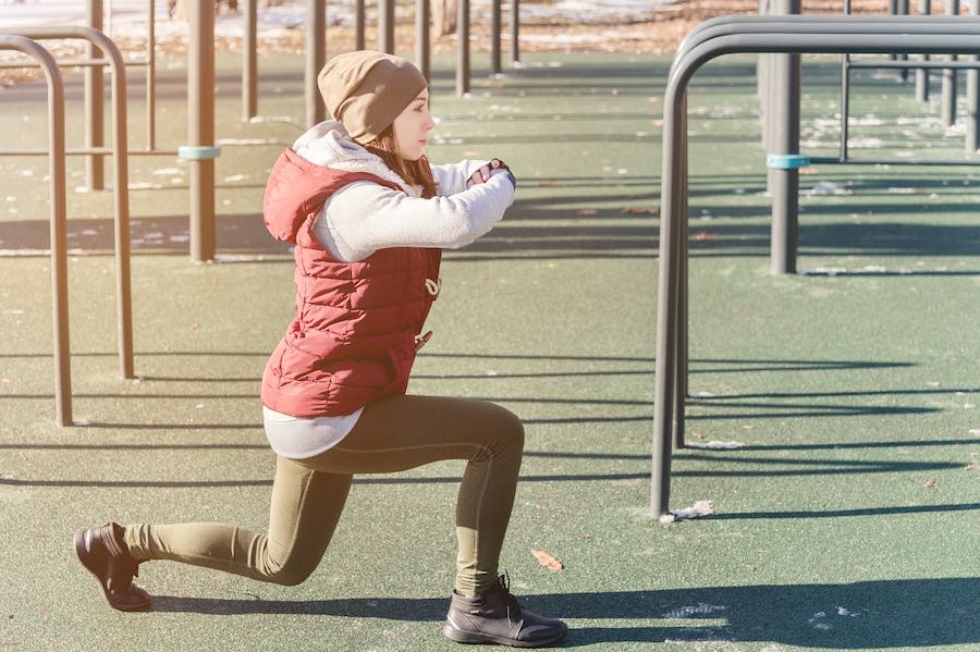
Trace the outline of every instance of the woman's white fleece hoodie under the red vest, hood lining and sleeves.
<path fill-rule="evenodd" d="M 355 182 L 323 205 L 313 232 L 327 250 L 344 262 L 364 260 L 387 247 L 464 247 L 489 232 L 514 201 L 504 171 L 466 188 L 466 180 L 487 161 L 464 160 L 432 165 L 437 197 L 421 198 L 380 157 L 354 143 L 340 122 L 326 121 L 299 136 L 293 150 L 317 165 L 370 172 L 405 193 L 371 182 Z"/>

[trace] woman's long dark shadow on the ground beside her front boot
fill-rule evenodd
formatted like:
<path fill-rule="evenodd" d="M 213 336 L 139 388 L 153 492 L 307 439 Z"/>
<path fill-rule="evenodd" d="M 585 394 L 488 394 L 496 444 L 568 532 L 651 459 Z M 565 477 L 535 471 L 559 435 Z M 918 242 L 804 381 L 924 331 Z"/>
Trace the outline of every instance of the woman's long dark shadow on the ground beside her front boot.
<path fill-rule="evenodd" d="M 980 643 L 980 578 L 975 577 L 552 593 L 520 601 L 542 615 L 572 620 L 563 647 L 665 640 L 767 641 L 852 650 Z M 446 607 L 445 598 L 290 602 L 158 595 L 152 611 L 428 622 L 442 620 Z M 583 620 L 610 623 L 590 626 Z"/>

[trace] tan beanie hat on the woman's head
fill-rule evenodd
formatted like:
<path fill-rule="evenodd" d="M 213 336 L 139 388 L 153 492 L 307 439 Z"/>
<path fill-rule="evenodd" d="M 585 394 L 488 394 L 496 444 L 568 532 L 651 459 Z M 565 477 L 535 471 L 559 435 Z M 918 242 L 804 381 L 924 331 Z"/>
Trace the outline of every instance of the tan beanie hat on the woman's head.
<path fill-rule="evenodd" d="M 362 144 L 377 138 L 429 85 L 411 62 L 375 50 L 334 57 L 317 84 L 327 111 Z"/>

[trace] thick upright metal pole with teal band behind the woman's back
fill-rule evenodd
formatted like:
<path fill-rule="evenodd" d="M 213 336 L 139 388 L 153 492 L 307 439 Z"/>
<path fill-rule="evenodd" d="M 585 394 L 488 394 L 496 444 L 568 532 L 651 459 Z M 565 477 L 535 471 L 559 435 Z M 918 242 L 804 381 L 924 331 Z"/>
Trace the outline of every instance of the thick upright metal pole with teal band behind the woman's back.
<path fill-rule="evenodd" d="M 187 49 L 187 144 L 215 146 L 215 4 L 191 0 Z M 215 258 L 215 159 L 188 161 L 191 168 L 191 259 Z"/>

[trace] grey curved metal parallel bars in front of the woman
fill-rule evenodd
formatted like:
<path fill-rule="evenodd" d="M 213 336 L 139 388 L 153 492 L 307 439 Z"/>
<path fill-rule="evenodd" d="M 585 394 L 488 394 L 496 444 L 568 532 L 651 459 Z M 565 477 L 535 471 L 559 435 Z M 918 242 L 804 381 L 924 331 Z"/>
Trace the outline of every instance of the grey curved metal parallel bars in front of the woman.
<path fill-rule="evenodd" d="M 768 26 L 767 26 L 768 25 Z M 745 16 L 707 21 L 678 48 L 664 93 L 660 271 L 652 438 L 651 510 L 669 512 L 674 436 L 684 442 L 687 376 L 687 128 L 686 89 L 705 63 L 734 53 L 980 54 L 980 20 L 874 16 Z M 903 62 L 905 63 L 905 62 Z M 795 172 L 787 170 L 787 173 Z M 672 436 L 673 435 L 673 436 Z"/>

